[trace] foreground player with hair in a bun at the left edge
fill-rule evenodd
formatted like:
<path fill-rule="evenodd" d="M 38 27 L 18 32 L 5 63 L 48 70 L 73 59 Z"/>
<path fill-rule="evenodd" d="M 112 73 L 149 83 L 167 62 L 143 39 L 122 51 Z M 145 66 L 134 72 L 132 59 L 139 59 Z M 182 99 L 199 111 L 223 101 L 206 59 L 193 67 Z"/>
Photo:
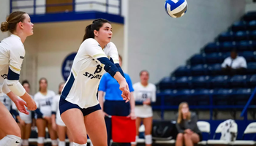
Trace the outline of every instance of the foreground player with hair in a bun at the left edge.
<path fill-rule="evenodd" d="M 33 34 L 33 23 L 26 12 L 12 12 L 7 20 L 1 23 L 1 31 L 10 31 L 10 37 L 0 42 L 0 94 L 6 93 L 20 112 L 29 114 L 28 110 L 36 110 L 37 105 L 18 82 L 20 68 L 25 56 L 23 42 Z M 19 99 L 26 101 L 26 103 Z M 0 103 L 0 130 L 5 137 L 0 140 L 1 146 L 17 146 L 20 144 L 20 128 L 10 112 Z"/>

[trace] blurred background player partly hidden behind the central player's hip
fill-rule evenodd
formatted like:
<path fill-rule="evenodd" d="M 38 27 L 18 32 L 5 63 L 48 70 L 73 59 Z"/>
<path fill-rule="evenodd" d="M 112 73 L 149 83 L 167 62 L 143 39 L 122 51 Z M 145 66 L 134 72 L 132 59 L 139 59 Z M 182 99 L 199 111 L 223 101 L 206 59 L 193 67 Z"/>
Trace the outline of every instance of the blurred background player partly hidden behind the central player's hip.
<path fill-rule="evenodd" d="M 67 129 L 67 126 L 64 124 L 64 122 L 61 119 L 61 115 L 59 113 L 59 99 L 61 96 L 61 91 L 64 87 L 65 82 L 61 82 L 59 84 L 59 94 L 53 97 L 53 104 L 52 104 L 52 115 L 51 115 L 51 120 L 52 120 L 52 126 L 55 131 L 58 133 L 59 137 L 59 145 L 58 146 L 65 146 L 66 142 L 66 134 L 67 137 L 69 138 L 69 146 L 73 145 L 72 142 L 72 137 Z"/>

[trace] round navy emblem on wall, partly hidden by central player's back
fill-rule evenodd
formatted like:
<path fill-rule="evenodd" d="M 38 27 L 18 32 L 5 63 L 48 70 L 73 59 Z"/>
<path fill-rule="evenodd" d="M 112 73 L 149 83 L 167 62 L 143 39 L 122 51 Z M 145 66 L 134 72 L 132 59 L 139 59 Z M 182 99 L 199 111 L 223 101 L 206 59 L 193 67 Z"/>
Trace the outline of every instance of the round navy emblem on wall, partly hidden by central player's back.
<path fill-rule="evenodd" d="M 67 78 L 69 77 L 69 74 L 70 74 L 70 71 L 72 68 L 72 64 L 73 64 L 76 54 L 77 53 L 71 53 L 71 54 L 67 55 L 67 57 L 63 61 L 63 64 L 61 67 L 61 74 L 65 81 L 67 81 Z"/>

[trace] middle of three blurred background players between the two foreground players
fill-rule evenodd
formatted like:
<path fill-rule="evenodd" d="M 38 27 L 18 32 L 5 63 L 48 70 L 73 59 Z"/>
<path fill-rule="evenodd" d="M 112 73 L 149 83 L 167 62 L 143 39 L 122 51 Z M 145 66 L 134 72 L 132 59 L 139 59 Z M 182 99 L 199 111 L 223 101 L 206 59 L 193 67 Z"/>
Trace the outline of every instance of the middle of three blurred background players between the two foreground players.
<path fill-rule="evenodd" d="M 58 145 L 56 131 L 51 124 L 51 104 L 55 93 L 48 90 L 48 81 L 42 77 L 39 80 L 39 92 L 34 95 L 34 101 L 37 103 L 36 119 L 38 128 L 37 145 L 45 144 L 45 128 L 48 128 L 51 143 L 53 146 Z"/>

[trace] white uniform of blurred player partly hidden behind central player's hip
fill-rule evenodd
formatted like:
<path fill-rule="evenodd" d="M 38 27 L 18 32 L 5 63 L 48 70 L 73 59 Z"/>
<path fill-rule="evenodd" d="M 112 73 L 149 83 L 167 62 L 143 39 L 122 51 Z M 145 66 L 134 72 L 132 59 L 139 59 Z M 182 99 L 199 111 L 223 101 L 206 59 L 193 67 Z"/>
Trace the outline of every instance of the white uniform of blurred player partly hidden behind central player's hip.
<path fill-rule="evenodd" d="M 61 114 L 59 112 L 59 99 L 61 95 L 56 95 L 53 97 L 53 104 L 51 105 L 52 112 L 56 112 L 56 123 L 59 126 L 66 126 L 65 123 L 61 119 Z"/>

